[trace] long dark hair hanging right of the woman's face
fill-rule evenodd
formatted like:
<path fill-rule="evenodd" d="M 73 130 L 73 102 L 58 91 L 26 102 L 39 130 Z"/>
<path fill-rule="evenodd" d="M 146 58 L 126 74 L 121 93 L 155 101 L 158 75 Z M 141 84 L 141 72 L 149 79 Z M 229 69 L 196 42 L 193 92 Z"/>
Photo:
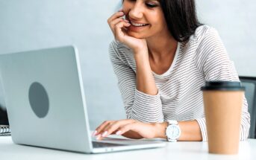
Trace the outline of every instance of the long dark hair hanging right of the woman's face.
<path fill-rule="evenodd" d="M 200 25 L 195 0 L 160 0 L 169 32 L 178 42 L 190 39 Z"/>

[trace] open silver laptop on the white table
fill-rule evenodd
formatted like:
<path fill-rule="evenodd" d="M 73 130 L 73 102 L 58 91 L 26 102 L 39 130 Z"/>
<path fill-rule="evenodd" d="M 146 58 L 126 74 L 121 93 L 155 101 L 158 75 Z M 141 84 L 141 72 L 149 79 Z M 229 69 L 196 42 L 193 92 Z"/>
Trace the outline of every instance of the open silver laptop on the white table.
<path fill-rule="evenodd" d="M 91 136 L 74 46 L 0 55 L 13 142 L 79 153 L 164 147 L 163 141 Z M 92 106 L 93 107 L 93 106 Z"/>

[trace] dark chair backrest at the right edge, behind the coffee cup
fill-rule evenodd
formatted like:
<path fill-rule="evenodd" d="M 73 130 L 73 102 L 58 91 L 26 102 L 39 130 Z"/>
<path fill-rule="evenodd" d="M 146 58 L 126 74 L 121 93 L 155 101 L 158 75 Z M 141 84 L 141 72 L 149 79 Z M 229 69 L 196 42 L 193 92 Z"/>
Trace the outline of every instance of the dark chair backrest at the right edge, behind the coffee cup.
<path fill-rule="evenodd" d="M 256 77 L 240 77 L 241 83 L 246 87 L 246 100 L 248 112 L 251 115 L 249 138 L 256 138 Z"/>

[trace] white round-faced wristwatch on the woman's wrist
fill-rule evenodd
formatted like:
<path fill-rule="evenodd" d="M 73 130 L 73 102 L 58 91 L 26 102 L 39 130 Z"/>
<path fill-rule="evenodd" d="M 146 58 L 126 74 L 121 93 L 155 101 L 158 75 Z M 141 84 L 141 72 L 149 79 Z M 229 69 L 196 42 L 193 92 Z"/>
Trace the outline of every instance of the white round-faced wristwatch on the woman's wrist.
<path fill-rule="evenodd" d="M 178 121 L 169 120 L 168 127 L 166 127 L 167 141 L 175 142 L 181 135 L 181 128 L 178 127 Z"/>

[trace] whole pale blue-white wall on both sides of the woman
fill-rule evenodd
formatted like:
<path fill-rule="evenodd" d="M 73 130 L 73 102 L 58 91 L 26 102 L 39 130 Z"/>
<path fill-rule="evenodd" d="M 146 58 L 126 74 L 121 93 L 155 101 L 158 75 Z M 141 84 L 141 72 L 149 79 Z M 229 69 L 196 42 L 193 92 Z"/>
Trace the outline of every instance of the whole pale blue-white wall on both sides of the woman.
<path fill-rule="evenodd" d="M 199 19 L 219 31 L 238 73 L 256 76 L 256 1 L 196 3 Z M 104 120 L 125 118 L 107 52 L 113 39 L 107 18 L 119 8 L 120 0 L 0 0 L 0 54 L 76 45 L 91 129 Z"/>

